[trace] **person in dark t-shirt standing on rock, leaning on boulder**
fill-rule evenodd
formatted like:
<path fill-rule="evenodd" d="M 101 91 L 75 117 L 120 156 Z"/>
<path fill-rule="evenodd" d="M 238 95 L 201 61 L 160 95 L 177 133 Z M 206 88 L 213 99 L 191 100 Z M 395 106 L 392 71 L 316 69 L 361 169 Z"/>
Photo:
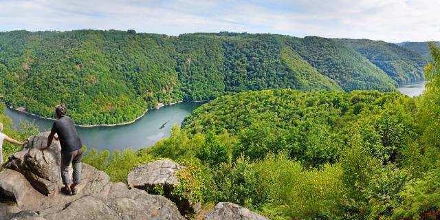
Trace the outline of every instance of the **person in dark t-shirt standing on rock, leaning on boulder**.
<path fill-rule="evenodd" d="M 83 143 L 81 142 L 74 121 L 66 116 L 66 107 L 59 104 L 55 107 L 55 118 L 57 119 L 52 125 L 52 131 L 47 137 L 47 146 L 41 147 L 44 151 L 52 144 L 55 134 L 56 140 L 60 140 L 61 144 L 61 179 L 63 179 L 64 187 L 61 189 L 66 195 L 75 195 L 76 186 L 81 180 L 81 158 L 83 157 Z M 70 184 L 69 166 L 74 165 L 74 183 Z"/>

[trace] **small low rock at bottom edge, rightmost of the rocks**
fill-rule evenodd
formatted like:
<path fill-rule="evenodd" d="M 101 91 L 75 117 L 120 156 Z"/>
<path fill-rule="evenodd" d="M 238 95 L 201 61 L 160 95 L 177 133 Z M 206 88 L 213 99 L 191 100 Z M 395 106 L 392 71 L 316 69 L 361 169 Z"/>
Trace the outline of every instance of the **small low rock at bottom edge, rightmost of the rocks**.
<path fill-rule="evenodd" d="M 223 220 L 223 219 L 239 219 L 239 220 L 268 220 L 260 214 L 251 212 L 247 208 L 230 202 L 220 202 L 213 210 L 205 215 L 205 220 Z"/>

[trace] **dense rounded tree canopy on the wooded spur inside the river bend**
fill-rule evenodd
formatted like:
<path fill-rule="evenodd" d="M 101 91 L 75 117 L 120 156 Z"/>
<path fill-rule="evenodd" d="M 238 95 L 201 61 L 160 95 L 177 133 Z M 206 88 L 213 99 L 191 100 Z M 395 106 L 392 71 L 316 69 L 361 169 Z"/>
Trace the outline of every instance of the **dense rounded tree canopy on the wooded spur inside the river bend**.
<path fill-rule="evenodd" d="M 384 162 L 394 162 L 404 139 L 414 136 L 408 99 L 377 91 L 248 91 L 204 104 L 182 126 L 190 133 L 226 130 L 236 135 L 234 158 L 263 159 L 267 153 L 286 151 L 307 167 L 335 163 L 353 126 L 359 126 L 363 144 Z"/>

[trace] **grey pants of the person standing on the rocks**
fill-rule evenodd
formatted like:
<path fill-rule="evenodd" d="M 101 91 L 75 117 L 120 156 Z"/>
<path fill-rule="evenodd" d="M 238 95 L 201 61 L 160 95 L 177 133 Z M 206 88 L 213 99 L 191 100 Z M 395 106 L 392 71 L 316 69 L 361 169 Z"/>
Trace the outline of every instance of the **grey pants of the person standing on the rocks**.
<path fill-rule="evenodd" d="M 69 166 L 74 165 L 74 183 L 80 184 L 81 181 L 81 158 L 83 158 L 83 149 L 61 154 L 61 179 L 63 184 L 70 184 Z"/>

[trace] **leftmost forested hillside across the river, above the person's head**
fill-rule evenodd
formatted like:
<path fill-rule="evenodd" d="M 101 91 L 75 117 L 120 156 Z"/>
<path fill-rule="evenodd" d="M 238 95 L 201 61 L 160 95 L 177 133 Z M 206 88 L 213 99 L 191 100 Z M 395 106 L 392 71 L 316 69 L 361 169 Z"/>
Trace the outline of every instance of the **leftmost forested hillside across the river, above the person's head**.
<path fill-rule="evenodd" d="M 0 33 L 3 100 L 54 117 L 67 104 L 78 124 L 134 120 L 181 100 L 173 45 L 157 34 L 81 30 Z"/>

